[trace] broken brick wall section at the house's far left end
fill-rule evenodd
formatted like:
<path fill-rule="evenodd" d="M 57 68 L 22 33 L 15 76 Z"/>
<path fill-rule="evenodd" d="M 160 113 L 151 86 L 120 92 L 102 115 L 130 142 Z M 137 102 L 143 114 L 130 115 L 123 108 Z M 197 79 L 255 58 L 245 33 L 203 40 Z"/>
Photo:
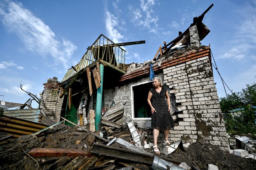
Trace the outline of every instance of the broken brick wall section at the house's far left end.
<path fill-rule="evenodd" d="M 40 109 L 43 109 L 47 117 L 55 122 L 60 121 L 60 111 L 62 109 L 63 98 L 59 98 L 62 93 L 62 89 L 59 86 L 57 77 L 47 79 L 47 83 L 44 83 L 44 90 L 40 93 L 41 104 Z"/>

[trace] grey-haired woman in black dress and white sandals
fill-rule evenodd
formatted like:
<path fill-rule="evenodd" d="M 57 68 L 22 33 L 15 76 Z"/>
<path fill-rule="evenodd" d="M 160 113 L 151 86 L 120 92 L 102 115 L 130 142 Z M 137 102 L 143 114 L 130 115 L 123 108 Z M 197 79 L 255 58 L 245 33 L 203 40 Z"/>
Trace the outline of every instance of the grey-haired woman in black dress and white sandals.
<path fill-rule="evenodd" d="M 153 128 L 154 152 L 160 154 L 157 139 L 159 131 L 164 131 L 164 142 L 168 145 L 169 131 L 174 127 L 171 116 L 170 97 L 166 87 L 162 86 L 161 79 L 154 77 L 152 80 L 153 88 L 149 90 L 148 104 L 151 108 L 151 128 Z"/>

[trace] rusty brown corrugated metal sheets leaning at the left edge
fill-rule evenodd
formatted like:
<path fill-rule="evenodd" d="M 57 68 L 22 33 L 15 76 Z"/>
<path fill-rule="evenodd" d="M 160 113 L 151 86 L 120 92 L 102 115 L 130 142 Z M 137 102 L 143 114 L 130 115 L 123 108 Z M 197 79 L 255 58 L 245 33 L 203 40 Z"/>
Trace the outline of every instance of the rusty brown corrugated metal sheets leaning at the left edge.
<path fill-rule="evenodd" d="M 14 135 L 16 138 L 22 135 L 31 135 L 46 127 L 48 126 L 15 117 L 5 115 L 0 117 L 0 132 Z"/>

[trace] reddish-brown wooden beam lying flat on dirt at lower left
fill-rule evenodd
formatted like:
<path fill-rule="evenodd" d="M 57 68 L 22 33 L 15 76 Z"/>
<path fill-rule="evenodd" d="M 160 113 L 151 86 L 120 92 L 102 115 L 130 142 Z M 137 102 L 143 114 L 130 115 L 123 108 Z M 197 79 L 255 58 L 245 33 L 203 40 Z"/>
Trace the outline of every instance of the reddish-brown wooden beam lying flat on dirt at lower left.
<path fill-rule="evenodd" d="M 78 155 L 91 157 L 89 151 L 79 149 L 34 148 L 28 152 L 32 157 L 77 157 Z"/>

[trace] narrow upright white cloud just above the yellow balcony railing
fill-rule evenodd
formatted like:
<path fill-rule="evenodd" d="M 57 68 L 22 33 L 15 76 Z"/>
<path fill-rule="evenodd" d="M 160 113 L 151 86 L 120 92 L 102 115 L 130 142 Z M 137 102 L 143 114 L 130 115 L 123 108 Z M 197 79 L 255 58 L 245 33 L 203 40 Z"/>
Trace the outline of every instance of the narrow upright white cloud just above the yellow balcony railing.
<path fill-rule="evenodd" d="M 119 25 L 119 21 L 116 16 L 114 16 L 112 13 L 110 13 L 107 9 L 105 10 L 106 14 L 106 29 L 108 37 L 114 42 L 114 43 L 120 43 L 121 39 L 124 38 L 124 36 L 119 33 L 116 27 Z"/>

